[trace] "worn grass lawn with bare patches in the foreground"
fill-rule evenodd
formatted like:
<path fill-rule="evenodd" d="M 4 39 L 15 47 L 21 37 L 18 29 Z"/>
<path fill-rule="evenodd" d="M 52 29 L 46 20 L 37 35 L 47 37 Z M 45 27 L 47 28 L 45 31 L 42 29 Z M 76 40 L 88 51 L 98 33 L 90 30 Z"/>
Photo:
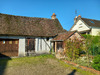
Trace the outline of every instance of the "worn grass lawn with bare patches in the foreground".
<path fill-rule="evenodd" d="M 56 59 L 53 55 L 0 59 L 0 75 L 96 75 Z"/>

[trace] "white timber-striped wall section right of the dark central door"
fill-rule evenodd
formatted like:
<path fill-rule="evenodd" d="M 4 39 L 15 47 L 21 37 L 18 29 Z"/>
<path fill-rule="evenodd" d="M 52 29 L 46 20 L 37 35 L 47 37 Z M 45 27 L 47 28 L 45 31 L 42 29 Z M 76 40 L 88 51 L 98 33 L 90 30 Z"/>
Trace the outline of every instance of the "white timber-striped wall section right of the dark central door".
<path fill-rule="evenodd" d="M 51 47 L 51 43 L 50 43 L 51 40 L 52 38 L 49 38 L 48 41 L 46 40 L 46 38 L 39 38 L 39 37 L 35 38 L 35 52 L 36 53 L 49 53 L 50 52 L 49 47 Z M 42 44 L 42 48 L 41 48 L 41 44 Z"/>

